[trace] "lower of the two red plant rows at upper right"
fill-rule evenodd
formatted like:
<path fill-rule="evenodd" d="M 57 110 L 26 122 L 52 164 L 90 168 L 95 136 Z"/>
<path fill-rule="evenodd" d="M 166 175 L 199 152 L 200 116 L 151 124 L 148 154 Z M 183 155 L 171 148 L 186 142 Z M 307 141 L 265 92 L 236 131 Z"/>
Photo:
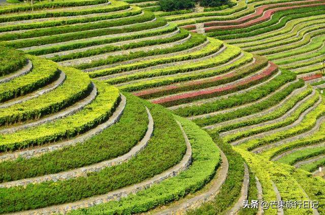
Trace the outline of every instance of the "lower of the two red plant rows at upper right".
<path fill-rule="evenodd" d="M 229 29 L 235 29 L 235 28 L 245 28 L 245 27 L 249 27 L 252 26 L 254 24 L 258 24 L 258 23 L 262 23 L 265 22 L 267 20 L 269 20 L 271 18 L 271 16 L 278 12 L 278 11 L 285 11 L 285 10 L 289 10 L 289 9 L 296 9 L 296 8 L 305 8 L 305 7 L 316 7 L 316 6 L 321 6 L 321 5 L 325 5 L 325 3 L 320 3 L 320 4 L 313 4 L 313 5 L 299 5 L 299 6 L 289 6 L 289 7 L 283 7 L 283 8 L 275 8 L 275 9 L 271 9 L 266 11 L 263 16 L 257 18 L 257 19 L 253 19 L 251 21 L 245 22 L 245 23 L 241 23 L 241 24 L 235 24 L 235 25 L 225 25 L 225 26 L 213 26 L 213 27 L 207 27 L 205 28 L 205 32 L 211 32 L 211 31 L 215 31 L 217 29 L 225 29 L 225 30 L 229 30 Z"/>

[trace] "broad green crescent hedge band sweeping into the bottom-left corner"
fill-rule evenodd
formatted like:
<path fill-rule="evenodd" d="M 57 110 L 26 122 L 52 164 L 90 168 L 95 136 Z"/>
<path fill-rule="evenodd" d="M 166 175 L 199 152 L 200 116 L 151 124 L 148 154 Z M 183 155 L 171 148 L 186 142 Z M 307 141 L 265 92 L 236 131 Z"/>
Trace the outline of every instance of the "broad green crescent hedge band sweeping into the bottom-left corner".
<path fill-rule="evenodd" d="M 128 162 L 71 180 L 0 188 L 0 213 L 74 202 L 140 183 L 182 160 L 186 144 L 173 115 L 161 106 L 145 103 L 154 121 L 148 146 Z M 166 126 L 169 125 L 169 126 Z"/>

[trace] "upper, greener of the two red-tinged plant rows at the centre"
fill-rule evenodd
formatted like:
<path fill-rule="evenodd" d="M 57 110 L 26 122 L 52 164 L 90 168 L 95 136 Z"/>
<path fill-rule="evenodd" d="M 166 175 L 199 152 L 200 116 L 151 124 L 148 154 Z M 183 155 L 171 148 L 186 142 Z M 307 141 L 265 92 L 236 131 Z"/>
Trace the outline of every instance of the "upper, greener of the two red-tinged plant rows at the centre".
<path fill-rule="evenodd" d="M 233 70 L 230 73 L 222 74 L 212 78 L 206 78 L 196 81 L 186 81 L 182 83 L 172 84 L 169 86 L 145 89 L 138 92 L 134 92 L 133 94 L 143 99 L 151 99 L 188 90 L 203 89 L 208 87 L 214 87 L 220 84 L 229 83 L 244 78 L 245 76 L 254 73 L 257 70 L 262 69 L 268 64 L 268 60 L 265 57 L 254 56 L 254 58 L 255 62 L 251 65 Z"/>

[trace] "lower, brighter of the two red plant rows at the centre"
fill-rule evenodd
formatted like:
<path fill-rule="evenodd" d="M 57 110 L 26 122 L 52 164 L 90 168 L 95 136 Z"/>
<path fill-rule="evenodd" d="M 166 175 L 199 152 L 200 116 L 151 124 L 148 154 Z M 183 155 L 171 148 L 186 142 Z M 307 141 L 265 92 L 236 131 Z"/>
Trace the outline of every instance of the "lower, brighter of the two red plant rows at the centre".
<path fill-rule="evenodd" d="M 262 71 L 262 73 L 257 73 L 249 78 L 242 79 L 239 82 L 228 84 L 226 86 L 218 86 L 209 89 L 202 89 L 194 92 L 185 92 L 177 95 L 171 95 L 163 98 L 158 98 L 152 100 L 155 104 L 161 104 L 163 106 L 174 106 L 182 103 L 188 103 L 193 100 L 198 100 L 202 98 L 212 98 L 220 95 L 229 94 L 231 92 L 236 92 L 238 90 L 252 86 L 258 82 L 261 82 L 278 71 L 278 66 L 272 62 L 269 62 L 270 66 Z"/>

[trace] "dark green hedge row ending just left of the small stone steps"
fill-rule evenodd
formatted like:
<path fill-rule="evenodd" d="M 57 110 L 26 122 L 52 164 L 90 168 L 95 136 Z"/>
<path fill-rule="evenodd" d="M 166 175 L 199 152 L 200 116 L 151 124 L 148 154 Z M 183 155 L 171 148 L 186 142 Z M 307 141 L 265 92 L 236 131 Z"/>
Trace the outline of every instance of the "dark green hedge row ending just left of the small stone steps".
<path fill-rule="evenodd" d="M 127 50 L 127 49 L 135 49 L 135 48 L 146 47 L 146 46 L 172 43 L 172 42 L 182 40 L 182 39 L 186 38 L 187 36 L 188 36 L 188 32 L 185 30 L 181 30 L 180 33 L 177 33 L 176 35 L 173 35 L 173 37 L 170 37 L 170 38 L 146 40 L 146 41 L 141 41 L 141 42 L 132 42 L 131 41 L 130 43 L 122 45 L 122 46 L 108 45 L 105 47 L 89 49 L 89 50 L 86 50 L 83 52 L 74 52 L 74 53 L 67 54 L 67 55 L 55 56 L 55 57 L 52 57 L 49 59 L 53 60 L 55 62 L 64 61 L 64 60 L 72 60 L 72 59 L 77 59 L 77 58 L 90 57 L 93 55 L 104 54 L 104 53 L 108 53 L 108 52 L 122 51 L 122 50 Z M 113 57 L 113 56 L 111 56 L 111 57 Z"/>

